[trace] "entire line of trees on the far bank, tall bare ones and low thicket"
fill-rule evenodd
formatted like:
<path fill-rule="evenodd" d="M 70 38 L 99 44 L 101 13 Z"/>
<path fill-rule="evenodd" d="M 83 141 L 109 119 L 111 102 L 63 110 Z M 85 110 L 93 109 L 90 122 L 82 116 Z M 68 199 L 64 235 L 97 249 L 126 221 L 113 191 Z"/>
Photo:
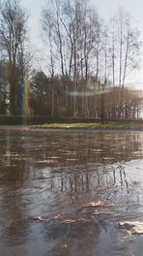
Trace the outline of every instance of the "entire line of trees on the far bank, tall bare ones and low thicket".
<path fill-rule="evenodd" d="M 0 114 L 23 114 L 28 80 L 31 115 L 137 118 L 142 97 L 125 84 L 141 43 L 129 12 L 105 22 L 86 0 L 53 0 L 41 19 L 48 75 L 30 67 L 27 11 L 0 4 Z"/>

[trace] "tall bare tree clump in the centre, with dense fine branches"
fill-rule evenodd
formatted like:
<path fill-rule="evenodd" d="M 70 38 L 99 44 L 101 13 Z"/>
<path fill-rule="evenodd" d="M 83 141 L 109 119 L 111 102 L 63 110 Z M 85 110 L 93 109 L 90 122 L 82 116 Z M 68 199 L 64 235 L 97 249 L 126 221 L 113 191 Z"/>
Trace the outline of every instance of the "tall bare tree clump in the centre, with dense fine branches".
<path fill-rule="evenodd" d="M 72 90 L 85 90 L 97 67 L 97 80 L 100 72 L 100 18 L 97 10 L 84 0 L 52 1 L 52 9 L 48 6 L 42 13 L 45 42 L 52 40 L 54 48 L 55 67 L 61 67 L 60 72 L 64 81 L 72 80 Z M 50 35 L 50 36 L 49 36 Z M 49 44 L 50 48 L 50 44 Z M 49 50 L 50 51 L 50 50 Z M 93 56 L 95 55 L 96 61 Z M 49 52 L 49 56 L 51 56 Z M 50 57 L 49 57 L 50 58 Z M 51 58 L 50 58 L 51 59 Z M 68 89 L 66 82 L 65 89 Z M 65 82 L 63 83 L 65 85 Z M 73 94 L 73 115 L 76 115 L 76 96 Z M 83 105 L 88 112 L 88 101 Z"/>

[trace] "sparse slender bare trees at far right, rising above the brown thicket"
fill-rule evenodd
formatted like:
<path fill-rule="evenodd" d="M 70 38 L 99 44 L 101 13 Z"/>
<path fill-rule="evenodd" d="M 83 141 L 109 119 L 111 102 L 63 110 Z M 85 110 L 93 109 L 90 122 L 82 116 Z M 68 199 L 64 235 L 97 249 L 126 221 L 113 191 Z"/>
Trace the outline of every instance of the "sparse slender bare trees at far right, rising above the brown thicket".
<path fill-rule="evenodd" d="M 141 47 L 139 31 L 129 12 L 123 8 L 119 8 L 112 17 L 111 25 L 112 80 L 113 84 L 116 80 L 119 86 L 124 87 L 129 72 L 138 67 Z"/>

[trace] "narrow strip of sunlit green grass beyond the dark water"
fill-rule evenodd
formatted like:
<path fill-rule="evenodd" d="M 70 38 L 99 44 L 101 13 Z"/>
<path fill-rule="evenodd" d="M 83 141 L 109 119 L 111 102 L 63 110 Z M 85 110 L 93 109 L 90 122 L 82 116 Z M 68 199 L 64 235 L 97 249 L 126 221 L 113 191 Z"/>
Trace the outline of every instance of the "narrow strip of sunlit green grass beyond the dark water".
<path fill-rule="evenodd" d="M 33 125 L 33 128 L 95 128 L 95 129 L 143 129 L 143 123 L 108 122 L 108 123 L 50 123 Z"/>

